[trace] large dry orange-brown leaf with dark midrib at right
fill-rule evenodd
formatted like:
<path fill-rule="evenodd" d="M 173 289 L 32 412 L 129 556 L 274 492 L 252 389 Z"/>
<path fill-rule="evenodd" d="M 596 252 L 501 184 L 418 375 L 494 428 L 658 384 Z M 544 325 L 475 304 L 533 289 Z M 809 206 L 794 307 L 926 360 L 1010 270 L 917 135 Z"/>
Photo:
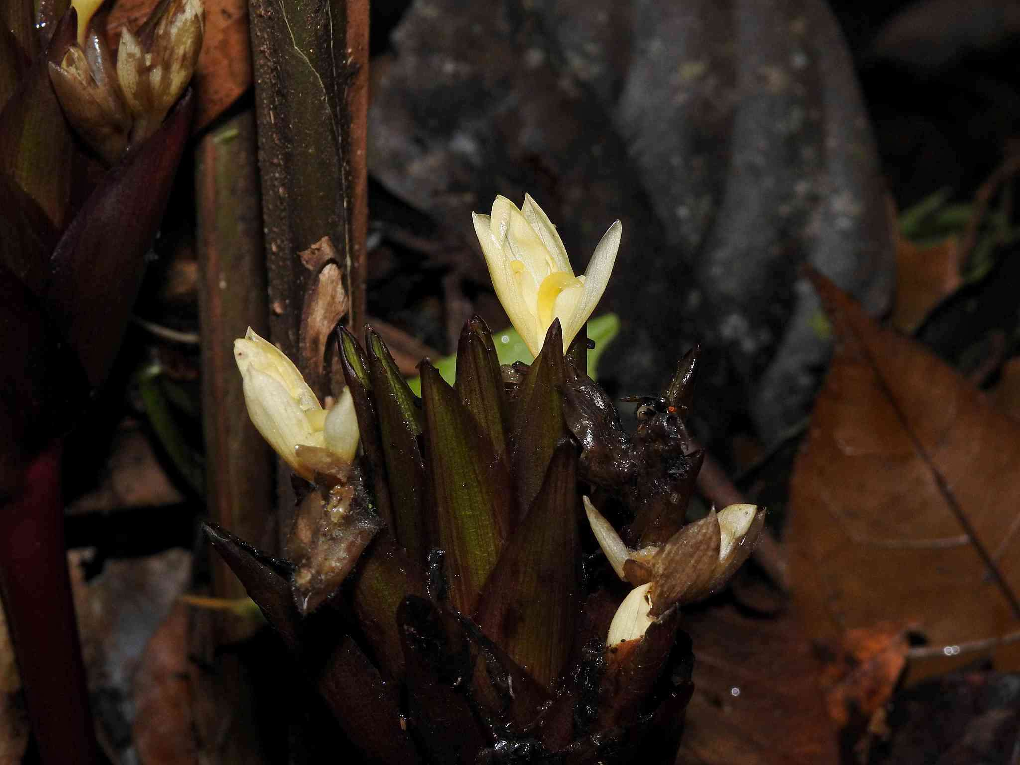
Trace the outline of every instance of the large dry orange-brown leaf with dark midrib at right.
<path fill-rule="evenodd" d="M 1020 426 L 815 282 L 839 343 L 792 481 L 790 573 L 808 631 L 832 641 L 916 621 L 932 653 L 972 642 L 987 653 L 1020 628 Z"/>

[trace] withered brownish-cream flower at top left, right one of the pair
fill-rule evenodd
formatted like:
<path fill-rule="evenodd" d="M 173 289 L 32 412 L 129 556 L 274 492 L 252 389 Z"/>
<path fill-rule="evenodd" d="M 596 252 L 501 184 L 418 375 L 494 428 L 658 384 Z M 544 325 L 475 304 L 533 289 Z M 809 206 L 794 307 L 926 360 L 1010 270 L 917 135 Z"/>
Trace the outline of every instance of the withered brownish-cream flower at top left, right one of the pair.
<path fill-rule="evenodd" d="M 135 116 L 132 140 L 143 141 L 181 97 L 198 62 L 205 34 L 202 0 L 170 0 L 138 36 L 126 28 L 117 49 L 117 78 Z"/>

